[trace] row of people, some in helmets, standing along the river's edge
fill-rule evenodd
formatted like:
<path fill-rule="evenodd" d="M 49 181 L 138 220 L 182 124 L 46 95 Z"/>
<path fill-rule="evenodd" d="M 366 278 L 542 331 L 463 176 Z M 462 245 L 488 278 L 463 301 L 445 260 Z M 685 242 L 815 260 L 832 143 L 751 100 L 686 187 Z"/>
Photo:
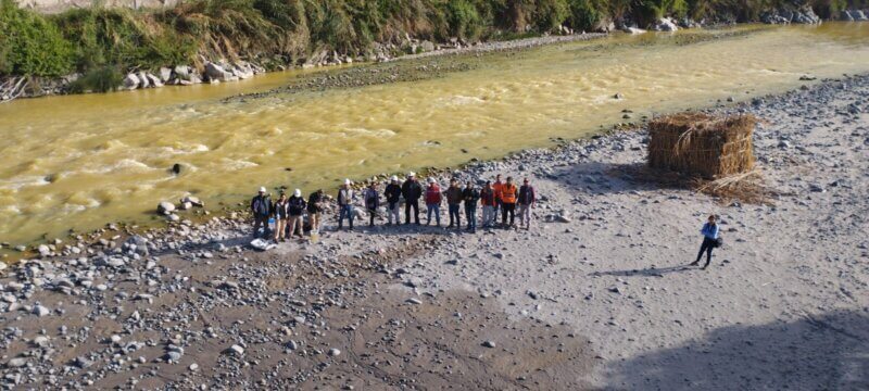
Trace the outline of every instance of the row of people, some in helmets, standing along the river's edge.
<path fill-rule="evenodd" d="M 441 190 L 434 178 L 428 178 L 427 185 L 424 187 L 417 180 L 415 173 L 408 173 L 404 182 L 400 182 L 399 178 L 393 175 L 383 189 L 382 195 L 386 200 L 386 204 L 382 206 L 386 210 L 388 225 L 401 224 L 400 205 L 402 200 L 404 201 L 404 224 L 420 225 L 419 202 L 423 200 L 426 206 L 426 225 L 431 225 L 433 216 L 434 224 L 440 227 L 441 206 L 445 201 L 450 218 L 448 228 L 462 228 L 462 211 L 464 210 L 467 222 L 466 229 L 470 232 L 477 231 L 478 205 L 482 209 L 481 226 L 483 228 L 515 227 L 518 205 L 519 225 L 525 229 L 530 229 L 531 209 L 537 202 L 534 188 L 528 178 L 522 180 L 521 186 L 516 186 L 513 177 L 507 177 L 506 181 L 502 181 L 500 174 L 495 177 L 494 182 L 487 180 L 481 189 L 478 189 L 471 180 L 461 186 L 454 178 L 450 180 L 445 190 Z M 339 209 L 338 229 L 344 228 L 344 220 L 348 223 L 348 229 L 353 229 L 354 204 L 360 198 L 368 212 L 368 225 L 375 225 L 375 218 L 381 207 L 379 184 L 376 180 L 371 181 L 357 195 L 350 179 L 345 179 L 336 198 Z M 323 190 L 313 192 L 305 200 L 302 198 L 302 191 L 295 189 L 289 198 L 281 191 L 278 200 L 273 202 L 266 189 L 261 187 L 259 194 L 251 200 L 251 212 L 254 216 L 253 235 L 254 237 L 259 236 L 260 229 L 267 232 L 270 228 L 269 220 L 274 219 L 273 239 L 275 241 L 292 239 L 294 235 L 303 238 L 303 215 L 305 213 L 311 223 L 311 231 L 319 232 L 325 201 Z M 499 214 L 500 223 L 498 222 Z"/>

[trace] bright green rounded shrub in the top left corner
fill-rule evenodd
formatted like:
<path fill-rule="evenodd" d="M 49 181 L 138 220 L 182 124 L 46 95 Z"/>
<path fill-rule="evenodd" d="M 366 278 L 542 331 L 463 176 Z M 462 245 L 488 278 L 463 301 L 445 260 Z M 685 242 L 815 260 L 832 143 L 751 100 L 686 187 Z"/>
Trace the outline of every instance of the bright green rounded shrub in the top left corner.
<path fill-rule="evenodd" d="M 61 76 L 73 71 L 73 47 L 41 15 L 0 1 L 0 74 Z"/>

